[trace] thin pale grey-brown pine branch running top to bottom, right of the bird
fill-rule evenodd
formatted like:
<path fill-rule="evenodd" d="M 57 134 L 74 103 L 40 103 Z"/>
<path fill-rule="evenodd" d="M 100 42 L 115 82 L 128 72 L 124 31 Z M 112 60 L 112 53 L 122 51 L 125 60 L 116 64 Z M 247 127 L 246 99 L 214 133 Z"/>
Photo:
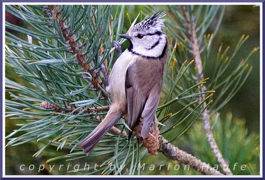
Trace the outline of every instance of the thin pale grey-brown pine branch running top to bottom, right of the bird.
<path fill-rule="evenodd" d="M 194 56 L 195 64 L 196 64 L 197 69 L 198 69 L 199 81 L 200 81 L 203 79 L 203 72 L 202 72 L 202 61 L 201 61 L 201 57 L 200 57 L 198 39 L 196 36 L 196 31 L 195 31 L 196 25 L 195 24 L 192 25 L 192 23 L 191 23 L 192 17 L 190 17 L 190 13 L 188 12 L 186 6 L 184 6 L 184 13 L 185 13 L 185 17 L 186 17 L 187 29 L 188 29 L 190 36 L 191 36 L 190 38 L 191 38 L 191 42 L 192 42 L 192 53 Z M 200 92 L 207 91 L 206 86 L 202 84 L 199 91 Z M 204 94 L 202 94 L 202 96 L 200 97 L 200 100 L 203 98 L 205 98 Z M 204 102 L 200 108 L 203 109 L 205 106 L 206 106 L 206 102 Z M 209 141 L 210 147 L 213 150 L 214 155 L 217 158 L 217 161 L 220 164 L 224 174 L 233 175 L 231 170 L 228 168 L 228 166 L 229 166 L 228 163 L 226 163 L 226 161 L 222 157 L 222 154 L 221 154 L 221 152 L 217 146 L 217 143 L 215 141 L 215 138 L 214 138 L 214 135 L 213 135 L 213 132 L 211 129 L 211 125 L 210 125 L 209 110 L 205 109 L 205 111 L 202 113 L 201 119 L 202 119 L 203 124 L 204 124 L 205 136 L 206 136 L 207 140 Z"/>

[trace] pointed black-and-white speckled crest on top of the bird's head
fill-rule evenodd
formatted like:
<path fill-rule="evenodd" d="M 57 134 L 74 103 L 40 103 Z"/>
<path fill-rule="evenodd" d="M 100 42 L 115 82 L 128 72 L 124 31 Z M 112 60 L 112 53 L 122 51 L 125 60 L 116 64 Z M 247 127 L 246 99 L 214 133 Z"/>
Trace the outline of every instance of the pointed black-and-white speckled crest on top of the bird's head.
<path fill-rule="evenodd" d="M 136 24 L 132 31 L 141 31 L 141 30 L 160 30 L 164 26 L 164 17 L 166 15 L 165 11 L 159 11 L 156 14 L 150 16 L 148 19 L 141 21 Z"/>

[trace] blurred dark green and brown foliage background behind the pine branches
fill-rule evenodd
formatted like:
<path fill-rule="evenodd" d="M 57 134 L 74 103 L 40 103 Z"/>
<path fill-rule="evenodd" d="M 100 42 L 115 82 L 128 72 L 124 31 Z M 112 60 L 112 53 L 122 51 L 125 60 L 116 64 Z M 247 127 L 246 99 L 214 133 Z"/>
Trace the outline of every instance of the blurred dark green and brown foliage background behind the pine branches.
<path fill-rule="evenodd" d="M 142 10 L 142 6 L 126 6 L 125 12 L 128 12 L 129 17 L 133 20 L 137 14 Z M 159 9 L 158 9 L 159 11 Z M 216 57 L 216 52 L 221 43 L 223 47 L 231 46 L 230 52 L 233 52 L 233 48 L 241 37 L 242 34 L 249 34 L 250 38 L 247 43 L 245 43 L 240 49 L 238 56 L 235 58 L 237 61 L 233 61 L 234 65 L 243 58 L 246 57 L 251 49 L 259 46 L 260 42 L 260 19 L 259 19 L 259 7 L 253 7 L 252 5 L 243 6 L 226 6 L 223 21 L 220 25 L 218 33 L 212 43 L 212 55 L 210 57 Z M 7 16 L 6 16 L 7 18 Z M 125 27 L 129 27 L 130 23 L 125 17 Z M 215 23 L 211 24 L 212 29 L 215 27 Z M 20 23 L 20 26 L 25 27 L 26 24 Z M 209 33 L 211 33 L 211 27 Z M 126 32 L 127 29 L 124 29 Z M 17 32 L 12 31 L 12 33 L 17 34 Z M 127 47 L 128 44 L 123 45 L 123 49 Z M 228 55 L 229 56 L 229 55 Z M 231 56 L 231 55 L 230 55 Z M 212 59 L 214 61 L 215 59 Z M 233 63 L 232 62 L 232 63 Z M 249 60 L 249 64 L 253 66 L 253 71 L 250 74 L 247 81 L 244 83 L 239 92 L 233 97 L 233 99 L 226 104 L 220 111 L 220 118 L 213 118 L 212 122 L 215 123 L 214 135 L 218 146 L 225 159 L 229 159 L 230 166 L 238 162 L 238 167 L 233 170 L 234 174 L 259 174 L 259 127 L 260 127 L 260 57 L 259 53 L 255 53 Z M 230 67 L 234 68 L 233 64 Z M 204 77 L 211 78 L 212 69 L 206 69 L 206 74 Z M 6 77 L 12 80 L 22 81 L 18 78 L 16 74 L 12 73 L 11 69 L 6 68 Z M 24 82 L 26 83 L 26 82 Z M 218 93 L 218 92 L 216 92 Z M 6 98 L 9 99 L 9 95 L 6 94 Z M 174 107 L 172 108 L 174 111 Z M 173 112 L 174 113 L 174 112 Z M 172 119 L 174 120 L 174 119 Z M 16 124 L 19 123 L 17 120 L 6 119 L 6 136 L 10 134 L 14 129 L 16 129 Z M 174 132 L 172 132 L 174 133 Z M 169 135 L 170 136 L 170 135 Z M 231 138 L 233 137 L 233 138 Z M 166 137 L 165 137 L 166 138 Z M 7 141 L 6 141 L 7 143 Z M 43 151 L 41 156 L 35 158 L 32 155 L 42 148 L 46 144 L 46 140 L 41 140 L 39 142 L 32 141 L 21 146 L 7 147 L 6 148 L 6 174 L 67 174 L 66 166 L 70 163 L 69 170 L 73 169 L 75 164 L 80 164 L 80 169 L 83 168 L 85 162 L 82 159 L 66 162 L 63 160 L 58 160 L 50 164 L 56 165 L 51 172 L 50 165 L 46 164 L 46 160 L 55 156 L 60 156 L 69 153 L 68 150 L 56 151 L 56 147 L 48 147 Z M 197 158 L 205 161 L 206 163 L 211 163 L 211 166 L 217 164 L 208 142 L 204 136 L 202 122 L 199 120 L 189 129 L 185 134 L 183 134 L 179 139 L 174 141 L 174 145 L 177 145 L 180 149 L 192 153 Z M 250 148 L 251 147 L 251 148 Z M 253 148 L 254 147 L 254 148 Z M 253 150 L 254 149 L 254 150 Z M 249 153 L 249 156 L 245 156 Z M 98 157 L 98 159 L 91 159 L 87 162 L 90 165 L 94 165 L 95 162 L 98 164 L 100 161 L 104 160 L 104 157 Z M 158 163 L 159 162 L 159 163 Z M 161 153 L 154 157 L 153 155 L 147 155 L 144 159 L 144 163 L 158 165 L 154 171 L 149 171 L 146 168 L 141 174 L 199 174 L 194 170 L 183 171 L 184 166 L 180 166 L 180 170 L 175 171 L 174 165 L 178 164 L 176 161 L 167 159 Z M 170 168 L 167 170 L 168 163 L 171 164 Z M 29 165 L 35 165 L 34 170 L 30 171 L 28 169 Z M 41 164 L 45 165 L 45 169 L 38 172 L 39 166 Z M 59 171 L 59 165 L 62 164 L 64 167 Z M 159 171 L 159 164 L 164 164 L 165 166 Z M 243 164 L 247 164 L 247 170 L 240 171 L 239 167 Z M 25 170 L 21 171 L 20 166 L 25 165 Z M 82 174 L 68 173 L 68 174 Z M 99 173 L 100 174 L 100 173 Z"/>

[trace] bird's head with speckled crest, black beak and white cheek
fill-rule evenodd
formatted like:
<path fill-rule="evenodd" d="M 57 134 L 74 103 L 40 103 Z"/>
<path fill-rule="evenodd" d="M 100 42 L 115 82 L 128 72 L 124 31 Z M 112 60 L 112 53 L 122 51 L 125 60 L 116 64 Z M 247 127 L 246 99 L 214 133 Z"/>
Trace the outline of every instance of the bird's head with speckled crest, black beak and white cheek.
<path fill-rule="evenodd" d="M 163 32 L 163 16 L 165 12 L 160 11 L 130 28 L 128 33 L 120 35 L 130 41 L 130 52 L 150 58 L 163 55 L 167 46 L 167 37 Z"/>

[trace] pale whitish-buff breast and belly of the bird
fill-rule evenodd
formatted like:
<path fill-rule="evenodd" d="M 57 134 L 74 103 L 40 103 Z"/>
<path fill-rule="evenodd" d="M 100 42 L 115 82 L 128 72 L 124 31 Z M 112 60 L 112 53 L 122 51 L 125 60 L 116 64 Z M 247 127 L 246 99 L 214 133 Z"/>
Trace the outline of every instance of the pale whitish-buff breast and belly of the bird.
<path fill-rule="evenodd" d="M 109 85 L 106 87 L 111 97 L 111 106 L 126 107 L 125 77 L 127 68 L 137 57 L 127 49 L 117 59 L 109 75 Z"/>

